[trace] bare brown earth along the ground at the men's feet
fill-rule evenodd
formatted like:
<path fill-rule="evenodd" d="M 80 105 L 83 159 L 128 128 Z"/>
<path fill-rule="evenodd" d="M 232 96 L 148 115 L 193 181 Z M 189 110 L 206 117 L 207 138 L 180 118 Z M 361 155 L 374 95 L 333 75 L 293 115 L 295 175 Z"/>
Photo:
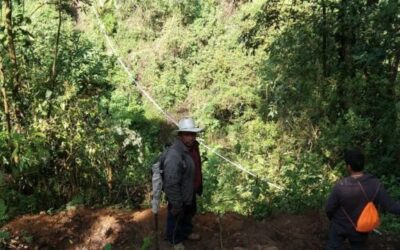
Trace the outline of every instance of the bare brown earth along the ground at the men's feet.
<path fill-rule="evenodd" d="M 163 240 L 165 209 L 159 214 L 160 249 L 172 249 Z M 323 249 L 328 222 L 321 212 L 281 214 L 257 221 L 229 213 L 199 214 L 194 226 L 202 239 L 185 242 L 187 249 Z M 54 215 L 41 213 L 14 219 L 1 230 L 11 234 L 6 249 L 155 249 L 154 217 L 150 210 L 78 208 Z M 370 249 L 400 249 L 398 237 L 371 234 Z M 149 246 L 151 245 L 151 246 Z M 146 248 L 146 246 L 148 246 Z"/>

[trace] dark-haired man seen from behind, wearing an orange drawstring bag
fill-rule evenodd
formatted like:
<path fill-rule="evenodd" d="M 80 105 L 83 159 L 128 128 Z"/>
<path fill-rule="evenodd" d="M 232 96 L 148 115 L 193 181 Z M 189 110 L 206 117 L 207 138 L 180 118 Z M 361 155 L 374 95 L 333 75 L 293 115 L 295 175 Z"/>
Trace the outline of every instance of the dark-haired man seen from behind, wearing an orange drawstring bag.
<path fill-rule="evenodd" d="M 326 214 L 331 221 L 326 249 L 341 249 L 345 239 L 351 249 L 367 249 L 368 233 L 355 229 L 357 219 L 368 201 L 389 213 L 400 215 L 400 203 L 393 201 L 380 181 L 364 173 L 364 155 L 357 149 L 344 154 L 350 176 L 340 180 L 333 188 L 326 204 Z"/>

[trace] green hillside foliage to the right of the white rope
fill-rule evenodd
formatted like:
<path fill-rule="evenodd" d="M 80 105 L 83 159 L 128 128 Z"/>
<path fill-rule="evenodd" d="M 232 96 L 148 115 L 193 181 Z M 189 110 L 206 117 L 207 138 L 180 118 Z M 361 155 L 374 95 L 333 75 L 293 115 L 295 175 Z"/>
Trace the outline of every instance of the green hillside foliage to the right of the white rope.
<path fill-rule="evenodd" d="M 387 9 L 398 6 L 389 2 L 123 5 L 135 14 L 123 12 L 121 26 L 140 25 L 115 37 L 141 83 L 177 117 L 199 120 L 205 139 L 228 158 L 283 188 L 248 178 L 209 152 L 202 209 L 263 215 L 319 208 L 343 173 L 342 150 L 354 145 L 365 148 L 371 172 L 394 171 L 396 95 L 379 75 L 387 69 L 384 55 L 394 56 L 381 19 L 387 13 L 398 25 Z M 370 33 L 377 29 L 384 48 Z"/>

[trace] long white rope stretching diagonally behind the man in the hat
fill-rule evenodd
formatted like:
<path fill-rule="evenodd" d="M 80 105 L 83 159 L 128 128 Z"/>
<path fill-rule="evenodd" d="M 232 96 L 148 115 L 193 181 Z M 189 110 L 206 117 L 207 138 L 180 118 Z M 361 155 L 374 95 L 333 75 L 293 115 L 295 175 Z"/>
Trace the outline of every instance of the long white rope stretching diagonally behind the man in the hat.
<path fill-rule="evenodd" d="M 117 60 L 118 60 L 119 64 L 120 64 L 121 67 L 125 70 L 125 72 L 127 73 L 127 75 L 128 75 L 131 79 L 133 79 L 132 73 L 129 71 L 129 69 L 128 69 L 128 67 L 125 65 L 125 63 L 122 61 L 122 59 L 121 59 L 121 57 L 119 56 L 119 54 L 118 54 L 116 48 L 113 46 L 113 42 L 111 41 L 111 38 L 107 35 L 106 28 L 105 28 L 103 22 L 100 20 L 99 14 L 97 13 L 97 11 L 96 11 L 96 9 L 94 8 L 93 5 L 92 5 L 92 11 L 93 11 L 93 13 L 94 13 L 95 16 L 96 16 L 97 22 L 98 22 L 98 24 L 99 24 L 99 26 L 100 26 L 100 30 L 101 30 L 101 32 L 103 33 L 104 37 L 106 38 L 107 43 L 108 43 L 108 45 L 109 45 L 109 47 L 110 47 L 112 53 L 113 53 L 114 55 L 117 56 Z M 133 79 L 133 83 L 134 83 L 134 85 L 139 89 L 139 91 L 142 92 L 142 94 L 143 94 L 144 96 L 146 96 L 147 99 L 149 99 L 149 101 L 150 101 L 151 103 L 153 103 L 153 105 L 154 105 L 154 106 L 169 120 L 169 121 L 171 121 L 171 122 L 174 123 L 176 126 L 178 126 L 178 122 L 177 122 L 172 116 L 170 116 L 170 115 L 169 115 L 169 114 L 168 114 L 168 113 L 167 113 L 167 112 L 166 112 L 166 111 L 165 111 L 165 110 L 150 96 L 149 93 L 147 93 L 147 91 L 141 86 L 141 84 L 140 84 L 138 81 L 136 81 L 135 79 Z M 253 176 L 253 177 L 255 177 L 255 178 L 259 179 L 259 180 L 265 181 L 265 182 L 267 182 L 267 183 L 268 183 L 270 186 L 272 186 L 272 187 L 275 187 L 275 188 L 280 189 L 280 190 L 283 190 L 283 189 L 284 189 L 283 187 L 281 187 L 281 186 L 279 186 L 279 185 L 277 185 L 277 184 L 271 183 L 271 182 L 268 181 L 268 180 L 261 179 L 261 178 L 258 177 L 256 174 L 254 174 L 253 172 L 247 170 L 246 168 L 244 168 L 244 167 L 243 167 L 242 165 L 240 165 L 239 163 L 236 163 L 236 162 L 233 162 L 233 161 L 229 160 L 229 159 L 226 158 L 225 156 L 223 156 L 223 155 L 221 155 L 220 153 L 218 153 L 215 149 L 213 149 L 213 148 L 211 148 L 210 146 L 206 145 L 204 142 L 202 142 L 202 140 L 199 140 L 199 142 L 200 142 L 200 144 L 203 145 L 205 148 L 207 148 L 208 150 L 210 150 L 211 152 L 213 152 L 214 154 L 216 154 L 217 156 L 219 156 L 221 159 L 223 159 L 223 160 L 225 160 L 226 162 L 230 163 L 231 165 L 233 165 L 233 166 L 236 167 L 237 169 L 241 170 L 242 172 L 245 172 L 245 173 L 247 173 L 248 175 L 251 175 L 251 176 Z"/>

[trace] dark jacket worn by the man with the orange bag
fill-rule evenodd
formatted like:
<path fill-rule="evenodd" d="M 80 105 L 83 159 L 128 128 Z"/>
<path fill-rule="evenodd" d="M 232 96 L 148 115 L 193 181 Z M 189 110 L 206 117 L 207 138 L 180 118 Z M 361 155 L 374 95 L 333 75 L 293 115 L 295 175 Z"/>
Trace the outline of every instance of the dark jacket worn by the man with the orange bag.
<path fill-rule="evenodd" d="M 364 188 L 368 200 L 365 198 L 358 181 Z M 400 215 L 400 203 L 392 200 L 379 180 L 370 174 L 364 174 L 357 179 L 349 176 L 340 180 L 333 187 L 328 198 L 326 214 L 329 220 L 343 231 L 355 230 L 343 209 L 356 224 L 362 209 L 375 194 L 373 202 L 377 208 L 380 207 L 389 213 Z"/>

